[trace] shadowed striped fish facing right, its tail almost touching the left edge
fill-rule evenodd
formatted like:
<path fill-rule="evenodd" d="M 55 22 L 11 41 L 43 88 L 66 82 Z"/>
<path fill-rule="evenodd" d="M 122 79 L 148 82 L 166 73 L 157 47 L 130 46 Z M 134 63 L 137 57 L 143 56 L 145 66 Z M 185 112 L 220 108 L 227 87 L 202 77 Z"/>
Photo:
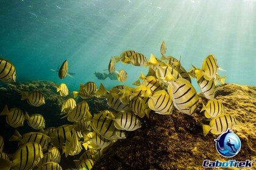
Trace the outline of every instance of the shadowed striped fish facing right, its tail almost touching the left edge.
<path fill-rule="evenodd" d="M 0 115 L 6 115 L 6 122 L 13 128 L 23 126 L 25 116 L 23 110 L 19 108 L 15 107 L 9 111 L 7 105 L 5 105 L 4 110 L 2 110 Z"/>

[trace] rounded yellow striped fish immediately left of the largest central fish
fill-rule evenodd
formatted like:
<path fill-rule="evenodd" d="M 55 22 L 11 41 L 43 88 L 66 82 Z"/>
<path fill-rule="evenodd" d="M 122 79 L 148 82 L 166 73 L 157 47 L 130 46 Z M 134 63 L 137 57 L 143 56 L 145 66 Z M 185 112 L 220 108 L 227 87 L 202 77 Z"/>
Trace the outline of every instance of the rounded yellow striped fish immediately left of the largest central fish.
<path fill-rule="evenodd" d="M 161 115 L 172 114 L 173 102 L 171 97 L 165 90 L 155 92 L 152 97 L 149 97 L 149 108 Z"/>

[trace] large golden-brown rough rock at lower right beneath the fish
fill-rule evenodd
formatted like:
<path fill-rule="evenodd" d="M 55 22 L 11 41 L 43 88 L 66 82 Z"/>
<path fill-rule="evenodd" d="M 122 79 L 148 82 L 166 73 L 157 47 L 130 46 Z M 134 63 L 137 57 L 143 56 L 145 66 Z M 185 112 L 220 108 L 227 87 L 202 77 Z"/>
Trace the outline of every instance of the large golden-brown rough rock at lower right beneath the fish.
<path fill-rule="evenodd" d="M 199 95 L 206 104 L 207 99 Z M 255 160 L 256 87 L 224 84 L 216 87 L 215 97 L 224 104 L 226 113 L 240 122 L 233 129 L 241 140 L 241 151 L 235 157 L 218 154 L 214 141 L 218 135 L 204 137 L 202 124 L 210 120 L 200 113 L 200 102 L 195 117 L 177 109 L 172 115 L 151 112 L 149 119 L 141 121 L 140 129 L 108 148 L 93 169 L 199 169 L 205 159 Z"/>

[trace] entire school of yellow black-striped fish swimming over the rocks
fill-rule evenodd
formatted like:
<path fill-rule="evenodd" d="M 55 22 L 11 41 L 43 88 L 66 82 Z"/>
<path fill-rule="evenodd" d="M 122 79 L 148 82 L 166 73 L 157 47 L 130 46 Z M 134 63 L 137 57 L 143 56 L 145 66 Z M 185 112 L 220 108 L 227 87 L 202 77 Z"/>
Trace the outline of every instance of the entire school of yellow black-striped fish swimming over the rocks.
<path fill-rule="evenodd" d="M 0 115 L 6 116 L 6 122 L 13 128 L 23 126 L 24 121 L 38 132 L 20 134 L 17 130 L 10 141 L 19 141 L 19 149 L 8 157 L 2 152 L 4 139 L 0 136 L 0 165 L 1 169 L 62 169 L 59 165 L 60 155 L 83 154 L 79 160 L 74 160 L 76 169 L 91 169 L 94 162 L 101 157 L 104 148 L 116 140 L 126 138 L 126 131 L 135 131 L 141 127 L 140 119 L 153 110 L 157 114 L 170 115 L 174 108 L 183 114 L 194 116 L 199 106 L 199 95 L 191 84 L 191 78 L 196 78 L 197 84 L 208 103 L 202 104 L 201 112 L 205 117 L 212 118 L 209 125 L 203 125 L 204 135 L 208 132 L 221 134 L 228 128 L 232 129 L 238 121 L 225 113 L 223 104 L 215 99 L 215 86 L 218 82 L 224 84 L 226 77 L 219 77 L 217 69 L 221 69 L 215 56 L 208 55 L 202 63 L 202 68 L 193 68 L 186 71 L 180 60 L 173 56 L 165 56 L 166 46 L 162 42 L 160 47 L 161 58 L 151 54 L 149 60 L 142 53 L 127 50 L 121 55 L 113 56 L 108 64 L 110 74 L 116 72 L 115 63 L 133 66 L 149 67 L 147 75 L 143 73 L 133 85 L 115 86 L 105 89 L 103 84 L 99 88 L 94 82 L 80 83 L 79 91 L 73 92 L 74 98 L 83 99 L 93 96 L 104 96 L 107 104 L 113 110 L 102 110 L 99 113 L 90 112 L 86 101 L 76 103 L 69 98 L 60 108 L 62 118 L 73 124 L 63 124 L 59 127 L 46 127 L 43 115 L 28 114 L 19 108 L 9 109 L 5 106 Z M 115 61 L 114 61 L 115 59 Z M 59 78 L 63 79 L 68 73 L 68 61 L 65 60 L 59 70 Z M 118 81 L 124 83 L 127 73 L 124 69 L 117 73 Z M 69 75 L 71 76 L 71 75 Z M 0 80 L 15 82 L 16 70 L 10 61 L 0 59 Z M 57 85 L 57 92 L 61 97 L 68 95 L 65 83 Z M 21 100 L 40 107 L 45 104 L 44 95 L 40 89 L 34 92 L 22 92 Z"/>

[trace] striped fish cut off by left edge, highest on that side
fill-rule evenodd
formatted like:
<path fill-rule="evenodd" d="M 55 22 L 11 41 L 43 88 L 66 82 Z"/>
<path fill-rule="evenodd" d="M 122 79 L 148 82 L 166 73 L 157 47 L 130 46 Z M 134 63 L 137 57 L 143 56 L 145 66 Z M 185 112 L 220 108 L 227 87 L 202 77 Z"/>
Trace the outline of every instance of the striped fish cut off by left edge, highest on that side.
<path fill-rule="evenodd" d="M 10 61 L 0 58 L 0 80 L 4 82 L 16 81 L 16 70 Z"/>

